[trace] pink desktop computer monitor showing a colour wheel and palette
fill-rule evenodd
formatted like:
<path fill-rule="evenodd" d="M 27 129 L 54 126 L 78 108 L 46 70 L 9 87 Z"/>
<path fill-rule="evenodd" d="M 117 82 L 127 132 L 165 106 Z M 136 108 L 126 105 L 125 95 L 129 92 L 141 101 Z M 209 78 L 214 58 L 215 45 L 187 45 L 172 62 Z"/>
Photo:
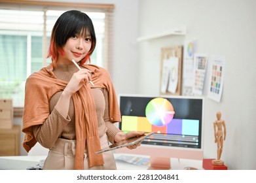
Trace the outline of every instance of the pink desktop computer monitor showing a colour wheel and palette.
<path fill-rule="evenodd" d="M 154 135 L 117 153 L 150 156 L 152 169 L 170 169 L 170 158 L 203 159 L 204 97 L 121 94 L 119 107 L 122 131 Z"/>

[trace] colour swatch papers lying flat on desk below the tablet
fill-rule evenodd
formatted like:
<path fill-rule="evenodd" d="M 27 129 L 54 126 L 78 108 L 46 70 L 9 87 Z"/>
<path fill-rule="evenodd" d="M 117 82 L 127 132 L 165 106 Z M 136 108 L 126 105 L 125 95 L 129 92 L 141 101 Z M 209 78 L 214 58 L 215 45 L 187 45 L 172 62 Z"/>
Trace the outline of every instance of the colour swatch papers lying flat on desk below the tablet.
<path fill-rule="evenodd" d="M 130 163 L 130 164 L 138 165 L 138 166 L 149 166 L 150 165 L 150 159 L 149 158 L 128 156 L 128 155 L 120 155 L 115 159 L 117 161 L 124 161 L 126 163 Z"/>

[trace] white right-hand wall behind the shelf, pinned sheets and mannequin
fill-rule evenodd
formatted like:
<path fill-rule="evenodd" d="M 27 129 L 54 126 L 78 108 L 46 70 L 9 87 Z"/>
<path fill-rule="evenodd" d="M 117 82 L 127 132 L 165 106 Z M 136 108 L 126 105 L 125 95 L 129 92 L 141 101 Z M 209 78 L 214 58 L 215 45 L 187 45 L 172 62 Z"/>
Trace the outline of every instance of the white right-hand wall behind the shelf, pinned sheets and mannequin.
<path fill-rule="evenodd" d="M 253 0 L 141 0 L 139 36 L 187 26 L 185 36 L 139 42 L 139 93 L 157 95 L 160 80 L 160 48 L 197 39 L 197 51 L 226 57 L 221 103 L 206 96 L 204 157 L 216 158 L 213 121 L 221 111 L 227 139 L 221 159 L 229 169 L 256 169 L 256 13 Z M 206 75 L 208 86 L 210 69 Z"/>

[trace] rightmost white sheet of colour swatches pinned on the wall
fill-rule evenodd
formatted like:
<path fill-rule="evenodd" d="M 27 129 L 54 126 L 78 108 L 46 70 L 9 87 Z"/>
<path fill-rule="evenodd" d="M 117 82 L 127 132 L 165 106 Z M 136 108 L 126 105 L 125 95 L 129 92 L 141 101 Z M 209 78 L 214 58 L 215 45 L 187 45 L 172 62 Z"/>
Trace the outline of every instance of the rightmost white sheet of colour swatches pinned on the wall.
<path fill-rule="evenodd" d="M 223 91 L 225 57 L 211 56 L 210 81 L 208 88 L 208 97 L 214 101 L 220 102 Z"/>

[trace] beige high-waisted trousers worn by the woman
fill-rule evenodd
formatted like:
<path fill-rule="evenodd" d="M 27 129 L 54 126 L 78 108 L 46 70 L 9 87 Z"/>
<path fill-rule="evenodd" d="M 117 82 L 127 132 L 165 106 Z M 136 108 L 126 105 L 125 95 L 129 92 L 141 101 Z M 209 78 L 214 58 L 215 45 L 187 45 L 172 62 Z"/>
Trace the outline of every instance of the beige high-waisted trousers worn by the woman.
<path fill-rule="evenodd" d="M 100 137 L 101 148 L 109 146 L 107 135 Z M 87 170 L 115 170 L 115 158 L 111 151 L 103 153 L 104 165 L 88 166 L 87 150 L 84 151 L 84 169 Z M 50 149 L 44 163 L 44 170 L 72 170 L 75 167 L 75 140 L 59 138 Z"/>

